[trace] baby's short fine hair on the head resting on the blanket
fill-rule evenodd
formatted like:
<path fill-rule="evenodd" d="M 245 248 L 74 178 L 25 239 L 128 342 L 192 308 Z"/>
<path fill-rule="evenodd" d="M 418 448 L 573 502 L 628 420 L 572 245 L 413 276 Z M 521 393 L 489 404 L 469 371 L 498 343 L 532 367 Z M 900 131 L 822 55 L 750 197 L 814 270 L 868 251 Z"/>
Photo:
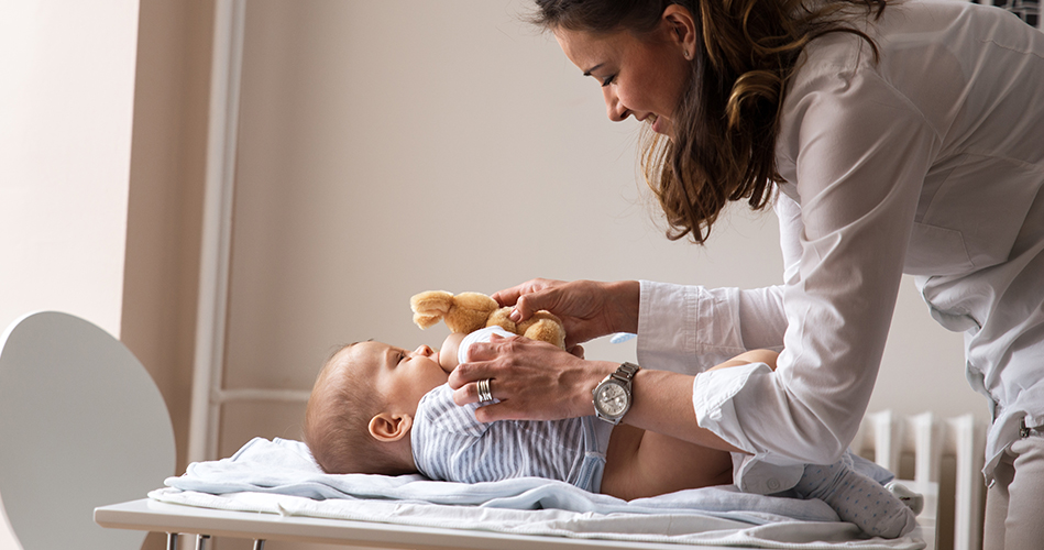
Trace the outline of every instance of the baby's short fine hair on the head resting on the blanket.
<path fill-rule="evenodd" d="M 338 361 L 358 343 L 339 346 L 323 363 L 305 410 L 305 443 L 329 474 L 398 474 L 386 446 L 370 436 L 370 420 L 386 399 L 359 369 Z"/>

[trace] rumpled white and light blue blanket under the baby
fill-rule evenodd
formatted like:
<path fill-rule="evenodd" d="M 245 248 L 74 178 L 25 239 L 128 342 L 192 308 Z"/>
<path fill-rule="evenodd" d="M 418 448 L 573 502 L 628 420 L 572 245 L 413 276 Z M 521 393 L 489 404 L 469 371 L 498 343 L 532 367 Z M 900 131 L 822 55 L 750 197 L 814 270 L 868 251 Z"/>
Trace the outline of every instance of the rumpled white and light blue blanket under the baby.
<path fill-rule="evenodd" d="M 625 502 L 536 477 L 432 482 L 419 475 L 325 474 L 299 441 L 256 438 L 229 459 L 193 463 L 150 497 L 175 504 L 426 527 L 752 548 L 920 549 L 866 538 L 821 501 L 681 491 Z"/>

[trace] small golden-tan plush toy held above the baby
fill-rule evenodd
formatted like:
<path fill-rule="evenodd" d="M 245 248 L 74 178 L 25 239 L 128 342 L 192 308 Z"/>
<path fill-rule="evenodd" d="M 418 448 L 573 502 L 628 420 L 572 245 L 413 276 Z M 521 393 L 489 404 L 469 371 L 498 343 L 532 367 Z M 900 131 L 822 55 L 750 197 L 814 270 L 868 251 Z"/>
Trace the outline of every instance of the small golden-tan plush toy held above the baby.
<path fill-rule="evenodd" d="M 484 327 L 499 326 L 508 332 L 532 340 L 550 342 L 565 348 L 565 329 L 558 317 L 540 310 L 529 319 L 515 323 L 508 317 L 509 307 L 499 307 L 493 298 L 480 293 L 461 293 L 453 296 L 444 290 L 428 290 L 409 299 L 414 310 L 414 322 L 427 329 L 440 320 L 453 332 L 474 332 Z"/>

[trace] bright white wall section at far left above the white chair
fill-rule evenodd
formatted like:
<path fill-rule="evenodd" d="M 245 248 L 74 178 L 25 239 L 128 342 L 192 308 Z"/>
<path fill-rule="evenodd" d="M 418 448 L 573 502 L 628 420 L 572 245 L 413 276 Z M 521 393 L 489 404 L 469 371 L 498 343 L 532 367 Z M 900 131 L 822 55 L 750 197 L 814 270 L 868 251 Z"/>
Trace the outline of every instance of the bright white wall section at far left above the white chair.
<path fill-rule="evenodd" d="M 0 3 L 0 327 L 120 333 L 138 1 Z"/>

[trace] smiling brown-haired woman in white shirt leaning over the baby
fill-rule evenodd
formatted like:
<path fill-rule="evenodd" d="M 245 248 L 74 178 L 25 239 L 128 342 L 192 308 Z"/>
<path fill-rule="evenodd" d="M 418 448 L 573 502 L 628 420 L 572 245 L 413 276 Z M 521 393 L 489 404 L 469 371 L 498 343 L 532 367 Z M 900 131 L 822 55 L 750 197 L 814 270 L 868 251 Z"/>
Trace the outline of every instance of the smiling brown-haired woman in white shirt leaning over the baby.
<path fill-rule="evenodd" d="M 968 378 L 992 406 L 988 547 L 1044 540 L 1044 35 L 949 0 L 538 4 L 609 118 L 660 138 L 642 158 L 668 237 L 702 242 L 729 200 L 774 204 L 784 284 L 502 290 L 519 319 L 562 317 L 570 345 L 637 332 L 641 369 L 498 340 L 451 376 L 457 403 L 492 380 L 501 403 L 481 420 L 590 415 L 617 373 L 609 420 L 770 464 L 831 463 L 910 273 L 933 317 L 965 332 Z M 756 348 L 781 350 L 774 373 L 692 375 Z"/>

